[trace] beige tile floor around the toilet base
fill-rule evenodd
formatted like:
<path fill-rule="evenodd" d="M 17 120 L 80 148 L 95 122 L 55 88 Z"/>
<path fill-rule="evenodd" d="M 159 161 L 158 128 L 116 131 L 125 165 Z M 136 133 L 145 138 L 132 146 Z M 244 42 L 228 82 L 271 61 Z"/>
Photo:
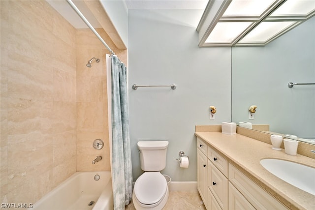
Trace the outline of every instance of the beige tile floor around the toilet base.
<path fill-rule="evenodd" d="M 135 210 L 131 202 L 126 210 Z M 206 210 L 198 191 L 170 191 L 163 210 Z"/>

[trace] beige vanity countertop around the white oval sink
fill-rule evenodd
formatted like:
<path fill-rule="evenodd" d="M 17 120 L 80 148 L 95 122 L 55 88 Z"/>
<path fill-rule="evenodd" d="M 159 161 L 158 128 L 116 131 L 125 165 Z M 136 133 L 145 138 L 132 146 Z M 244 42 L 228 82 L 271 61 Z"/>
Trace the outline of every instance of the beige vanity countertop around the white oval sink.
<path fill-rule="evenodd" d="M 229 162 L 254 182 L 279 199 L 290 209 L 315 210 L 315 196 L 307 193 L 268 172 L 259 161 L 277 158 L 302 163 L 315 168 L 315 159 L 272 150 L 272 145 L 240 135 L 221 132 L 195 132 L 195 135 L 223 154 Z M 310 151 L 311 152 L 311 151 Z M 314 178 L 315 181 L 315 178 Z"/>

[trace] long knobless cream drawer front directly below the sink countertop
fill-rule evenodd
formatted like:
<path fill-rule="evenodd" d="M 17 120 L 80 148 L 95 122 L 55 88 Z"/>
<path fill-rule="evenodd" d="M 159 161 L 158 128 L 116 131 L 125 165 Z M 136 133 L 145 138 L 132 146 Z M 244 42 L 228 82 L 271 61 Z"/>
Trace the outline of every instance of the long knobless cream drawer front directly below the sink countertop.
<path fill-rule="evenodd" d="M 244 195 L 244 197 L 257 210 L 288 210 L 276 198 L 258 186 L 251 179 L 230 163 L 228 164 L 229 181 Z"/>

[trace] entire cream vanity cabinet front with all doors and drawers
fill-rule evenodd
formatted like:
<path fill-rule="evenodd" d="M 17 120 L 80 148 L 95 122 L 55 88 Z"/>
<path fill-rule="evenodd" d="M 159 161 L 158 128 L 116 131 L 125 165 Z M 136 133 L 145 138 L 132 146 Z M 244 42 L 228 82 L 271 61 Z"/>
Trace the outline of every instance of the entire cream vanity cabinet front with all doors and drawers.
<path fill-rule="evenodd" d="M 197 138 L 197 188 L 207 210 L 288 210 Z"/>

